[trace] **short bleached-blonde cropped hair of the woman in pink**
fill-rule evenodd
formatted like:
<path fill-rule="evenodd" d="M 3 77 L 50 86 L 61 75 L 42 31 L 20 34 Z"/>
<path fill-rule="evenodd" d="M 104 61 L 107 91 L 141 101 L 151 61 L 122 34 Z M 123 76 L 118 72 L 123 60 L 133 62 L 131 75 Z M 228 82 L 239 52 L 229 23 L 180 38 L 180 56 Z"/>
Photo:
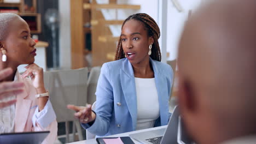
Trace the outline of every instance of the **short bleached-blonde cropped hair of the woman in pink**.
<path fill-rule="evenodd" d="M 19 15 L 12 14 L 12 13 L 2 13 L 0 14 L 0 40 L 3 40 L 9 31 L 10 23 L 20 18 Z"/>

